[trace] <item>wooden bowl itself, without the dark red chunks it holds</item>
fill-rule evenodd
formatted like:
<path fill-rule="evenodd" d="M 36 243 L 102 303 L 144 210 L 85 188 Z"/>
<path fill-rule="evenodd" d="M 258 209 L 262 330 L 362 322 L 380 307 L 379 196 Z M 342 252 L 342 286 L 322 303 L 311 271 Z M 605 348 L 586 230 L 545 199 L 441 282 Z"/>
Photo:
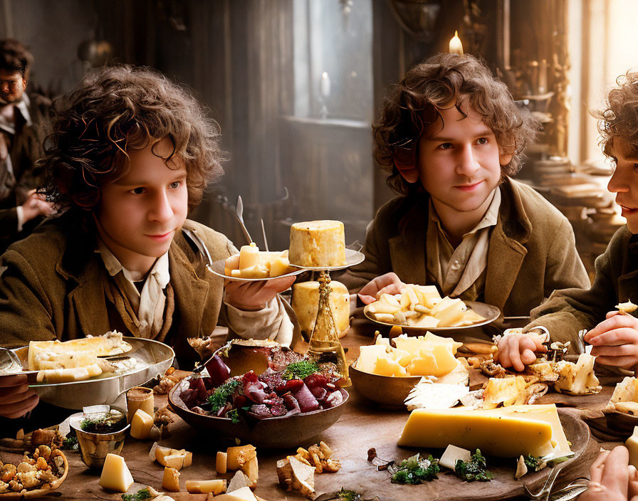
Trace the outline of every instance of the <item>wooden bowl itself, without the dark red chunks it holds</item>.
<path fill-rule="evenodd" d="M 184 381 L 188 381 L 191 377 L 188 376 Z M 347 391 L 341 389 L 343 401 L 336 407 L 293 414 L 292 416 L 265 418 L 261 421 L 242 418 L 239 423 L 233 423 L 230 418 L 204 416 L 189 411 L 183 404 L 180 406 L 176 397 L 177 392 L 182 391 L 181 388 L 182 384 L 173 386 L 169 391 L 168 401 L 175 413 L 190 426 L 206 434 L 213 432 L 215 438 L 229 440 L 239 438 L 241 443 L 251 443 L 255 447 L 263 448 L 289 448 L 297 447 L 303 443 L 315 442 L 310 441 L 310 439 L 318 436 L 337 422 L 345 410 L 345 403 L 348 399 Z"/>

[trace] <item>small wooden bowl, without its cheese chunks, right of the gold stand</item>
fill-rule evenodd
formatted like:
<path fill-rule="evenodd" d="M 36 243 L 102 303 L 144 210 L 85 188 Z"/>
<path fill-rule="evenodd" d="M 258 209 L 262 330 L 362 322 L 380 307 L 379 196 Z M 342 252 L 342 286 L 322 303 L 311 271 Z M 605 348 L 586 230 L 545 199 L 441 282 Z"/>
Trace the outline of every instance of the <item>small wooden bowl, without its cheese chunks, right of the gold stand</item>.
<path fill-rule="evenodd" d="M 421 380 L 421 376 L 381 376 L 357 369 L 356 362 L 350 366 L 350 380 L 352 386 L 365 396 L 366 399 L 377 402 L 382 406 L 392 408 L 406 408 L 403 403 Z"/>

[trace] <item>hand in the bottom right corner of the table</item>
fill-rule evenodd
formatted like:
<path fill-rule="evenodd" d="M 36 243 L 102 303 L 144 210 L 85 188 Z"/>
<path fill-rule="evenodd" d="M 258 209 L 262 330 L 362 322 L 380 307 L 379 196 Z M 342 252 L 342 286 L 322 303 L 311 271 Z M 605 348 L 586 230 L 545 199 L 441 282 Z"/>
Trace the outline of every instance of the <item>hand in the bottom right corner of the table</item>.
<path fill-rule="evenodd" d="M 605 450 L 592 463 L 587 490 L 580 501 L 638 501 L 636 468 L 629 465 L 629 451 L 619 445 Z"/>

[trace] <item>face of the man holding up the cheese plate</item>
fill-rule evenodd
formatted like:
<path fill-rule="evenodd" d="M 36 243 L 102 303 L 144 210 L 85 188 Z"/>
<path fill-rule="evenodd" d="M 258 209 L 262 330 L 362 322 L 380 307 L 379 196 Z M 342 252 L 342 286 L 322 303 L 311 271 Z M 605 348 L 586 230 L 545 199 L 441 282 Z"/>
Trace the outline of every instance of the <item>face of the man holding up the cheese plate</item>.
<path fill-rule="evenodd" d="M 167 252 L 188 211 L 187 169 L 169 139 L 127 151 L 130 168 L 100 189 L 98 234 L 127 270 L 147 273 Z"/>

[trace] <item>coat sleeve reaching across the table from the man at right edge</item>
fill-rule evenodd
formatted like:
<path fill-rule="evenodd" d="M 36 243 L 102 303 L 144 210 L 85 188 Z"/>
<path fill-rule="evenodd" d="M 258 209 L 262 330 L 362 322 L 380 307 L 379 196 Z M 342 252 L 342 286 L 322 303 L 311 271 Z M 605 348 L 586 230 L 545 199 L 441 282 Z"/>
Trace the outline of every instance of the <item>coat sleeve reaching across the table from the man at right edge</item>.
<path fill-rule="evenodd" d="M 607 312 L 614 309 L 617 302 L 617 280 L 615 258 L 622 255 L 622 241 L 617 233 L 605 253 L 595 262 L 596 277 L 591 288 L 567 288 L 556 290 L 550 298 L 530 312 L 532 322 L 525 332 L 543 325 L 551 338 L 560 342 L 572 342 L 575 346 L 580 329 L 592 329 L 605 320 Z"/>

